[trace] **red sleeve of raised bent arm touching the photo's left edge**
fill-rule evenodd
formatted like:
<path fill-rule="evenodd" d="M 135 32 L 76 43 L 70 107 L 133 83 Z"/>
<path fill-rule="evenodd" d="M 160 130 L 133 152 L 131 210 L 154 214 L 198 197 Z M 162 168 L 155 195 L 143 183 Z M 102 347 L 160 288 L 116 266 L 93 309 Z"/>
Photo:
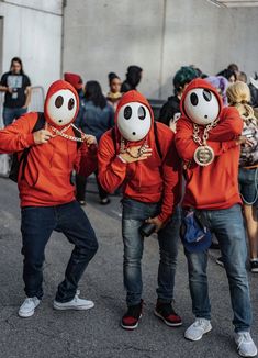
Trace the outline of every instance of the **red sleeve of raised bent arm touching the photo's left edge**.
<path fill-rule="evenodd" d="M 34 144 L 32 130 L 37 113 L 27 113 L 0 131 L 0 154 L 23 150 Z"/>

